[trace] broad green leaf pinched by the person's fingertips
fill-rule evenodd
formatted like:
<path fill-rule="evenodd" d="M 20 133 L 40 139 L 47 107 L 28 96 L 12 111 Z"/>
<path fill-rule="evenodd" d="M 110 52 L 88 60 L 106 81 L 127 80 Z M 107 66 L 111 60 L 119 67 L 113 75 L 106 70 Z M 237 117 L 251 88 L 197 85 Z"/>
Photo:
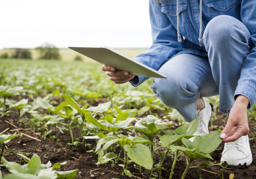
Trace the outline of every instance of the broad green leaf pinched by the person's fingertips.
<path fill-rule="evenodd" d="M 211 134 L 201 136 L 199 151 L 203 153 L 211 153 L 219 147 L 222 140 L 219 137 L 219 131 L 213 131 Z"/>

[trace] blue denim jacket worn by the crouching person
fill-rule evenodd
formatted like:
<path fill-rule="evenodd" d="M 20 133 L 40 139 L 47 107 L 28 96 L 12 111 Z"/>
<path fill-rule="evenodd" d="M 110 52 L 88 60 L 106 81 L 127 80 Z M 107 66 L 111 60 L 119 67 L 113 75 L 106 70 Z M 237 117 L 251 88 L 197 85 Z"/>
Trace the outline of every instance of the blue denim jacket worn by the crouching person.
<path fill-rule="evenodd" d="M 149 0 L 149 15 L 153 44 L 135 60 L 158 70 L 170 58 L 180 53 L 207 56 L 204 45 L 199 46 L 199 0 L 179 1 L 179 30 L 182 42 L 177 40 L 177 0 Z M 249 93 L 251 106 L 256 100 L 256 1 L 255 0 L 202 0 L 202 34 L 208 22 L 219 15 L 232 16 L 246 25 L 251 33 L 252 48 L 247 55 L 238 85 L 239 90 Z M 250 73 L 248 73 L 250 72 Z M 130 83 L 138 86 L 148 77 L 135 78 Z M 238 89 L 237 89 L 238 90 Z"/>

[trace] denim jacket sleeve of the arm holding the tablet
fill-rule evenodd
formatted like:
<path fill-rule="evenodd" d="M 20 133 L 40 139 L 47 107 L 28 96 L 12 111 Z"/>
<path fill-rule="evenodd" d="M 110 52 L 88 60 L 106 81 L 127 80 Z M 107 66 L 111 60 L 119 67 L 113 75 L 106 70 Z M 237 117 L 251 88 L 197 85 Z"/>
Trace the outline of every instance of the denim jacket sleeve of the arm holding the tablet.
<path fill-rule="evenodd" d="M 182 50 L 182 43 L 177 40 L 177 30 L 168 19 L 167 15 L 161 12 L 161 4 L 156 0 L 149 1 L 149 17 L 153 44 L 145 52 L 134 57 L 135 60 L 158 70 L 163 63 Z M 130 83 L 139 86 L 148 77 L 134 78 Z"/>

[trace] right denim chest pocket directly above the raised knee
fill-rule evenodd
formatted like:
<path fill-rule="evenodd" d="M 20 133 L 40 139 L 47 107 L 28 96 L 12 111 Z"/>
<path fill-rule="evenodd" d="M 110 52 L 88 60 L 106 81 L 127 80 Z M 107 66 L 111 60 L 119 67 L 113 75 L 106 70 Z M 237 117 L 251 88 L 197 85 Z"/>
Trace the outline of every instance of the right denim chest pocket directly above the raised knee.
<path fill-rule="evenodd" d="M 239 18 L 239 0 L 208 0 L 205 3 L 208 6 L 211 19 L 219 15 L 229 15 Z"/>

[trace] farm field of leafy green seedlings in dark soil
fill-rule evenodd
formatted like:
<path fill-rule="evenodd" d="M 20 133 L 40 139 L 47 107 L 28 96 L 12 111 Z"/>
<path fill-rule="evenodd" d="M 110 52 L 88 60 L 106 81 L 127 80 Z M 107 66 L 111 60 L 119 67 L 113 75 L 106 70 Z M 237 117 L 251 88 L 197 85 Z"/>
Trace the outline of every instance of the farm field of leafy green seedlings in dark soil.
<path fill-rule="evenodd" d="M 151 84 L 152 79 L 136 88 L 116 85 L 101 64 L 85 59 L 0 59 L 0 134 L 16 135 L 0 138 L 8 142 L 1 142 L 4 179 L 256 177 L 255 107 L 248 112 L 253 162 L 229 166 L 220 163 L 224 144 L 218 136 L 227 115 L 217 111 L 218 96 L 205 98 L 214 105 L 211 134 L 197 137 L 196 144 L 188 139 L 197 121 L 183 121 L 153 95 Z M 29 164 L 23 171 L 10 162 Z"/>

